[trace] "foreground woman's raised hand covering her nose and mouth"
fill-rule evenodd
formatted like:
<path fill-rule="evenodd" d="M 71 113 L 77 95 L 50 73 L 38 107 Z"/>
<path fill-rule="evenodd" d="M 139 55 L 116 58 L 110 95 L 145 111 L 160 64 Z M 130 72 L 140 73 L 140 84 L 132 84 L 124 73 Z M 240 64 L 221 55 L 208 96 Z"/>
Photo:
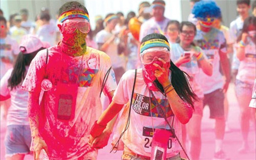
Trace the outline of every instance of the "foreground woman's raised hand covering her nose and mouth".
<path fill-rule="evenodd" d="M 157 70 L 155 70 L 154 76 L 157 77 L 157 80 L 159 83 L 165 87 L 168 86 L 170 81 L 169 81 L 169 62 L 165 62 L 161 58 L 158 58 L 159 61 L 163 63 L 163 67 L 159 66 L 156 63 L 153 63 L 155 67 L 157 67 Z"/>

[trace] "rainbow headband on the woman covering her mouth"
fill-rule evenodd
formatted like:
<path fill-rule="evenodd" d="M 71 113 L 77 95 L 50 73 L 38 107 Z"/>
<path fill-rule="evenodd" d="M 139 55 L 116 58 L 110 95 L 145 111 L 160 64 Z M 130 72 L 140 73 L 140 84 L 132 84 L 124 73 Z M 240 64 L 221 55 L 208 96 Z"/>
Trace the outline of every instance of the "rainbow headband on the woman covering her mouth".
<path fill-rule="evenodd" d="M 170 51 L 170 45 L 166 40 L 152 39 L 152 40 L 145 41 L 141 44 L 140 53 L 152 47 L 166 47 Z"/>

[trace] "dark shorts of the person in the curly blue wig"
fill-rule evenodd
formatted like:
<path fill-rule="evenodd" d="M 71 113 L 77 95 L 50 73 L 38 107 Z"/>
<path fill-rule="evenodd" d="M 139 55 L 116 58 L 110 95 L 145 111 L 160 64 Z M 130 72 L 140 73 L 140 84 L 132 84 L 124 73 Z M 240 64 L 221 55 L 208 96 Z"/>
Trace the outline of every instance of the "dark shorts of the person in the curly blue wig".
<path fill-rule="evenodd" d="M 222 89 L 217 89 L 209 94 L 204 94 L 204 106 L 210 109 L 210 118 L 224 117 L 224 93 Z"/>

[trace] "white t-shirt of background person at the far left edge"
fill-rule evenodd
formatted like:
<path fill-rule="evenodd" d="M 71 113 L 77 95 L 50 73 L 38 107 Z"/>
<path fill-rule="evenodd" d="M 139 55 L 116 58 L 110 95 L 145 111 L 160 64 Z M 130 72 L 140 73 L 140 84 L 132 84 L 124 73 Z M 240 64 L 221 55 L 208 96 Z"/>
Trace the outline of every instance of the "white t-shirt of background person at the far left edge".
<path fill-rule="evenodd" d="M 13 55 L 19 54 L 19 45 L 16 40 L 13 40 L 9 36 L 6 38 L 0 39 L 0 78 L 12 68 L 12 63 L 14 60 Z M 3 58 L 7 57 L 11 60 L 11 63 L 3 62 Z"/>

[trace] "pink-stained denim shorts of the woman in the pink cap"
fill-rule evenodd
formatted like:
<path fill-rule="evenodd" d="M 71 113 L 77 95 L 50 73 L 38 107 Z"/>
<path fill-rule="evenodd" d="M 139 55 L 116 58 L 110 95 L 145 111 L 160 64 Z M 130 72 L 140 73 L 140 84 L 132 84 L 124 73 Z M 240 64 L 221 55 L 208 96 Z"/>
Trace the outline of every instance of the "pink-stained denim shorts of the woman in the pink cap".
<path fill-rule="evenodd" d="M 28 125 L 7 126 L 5 136 L 6 157 L 15 154 L 29 154 L 31 144 L 31 131 Z"/>

